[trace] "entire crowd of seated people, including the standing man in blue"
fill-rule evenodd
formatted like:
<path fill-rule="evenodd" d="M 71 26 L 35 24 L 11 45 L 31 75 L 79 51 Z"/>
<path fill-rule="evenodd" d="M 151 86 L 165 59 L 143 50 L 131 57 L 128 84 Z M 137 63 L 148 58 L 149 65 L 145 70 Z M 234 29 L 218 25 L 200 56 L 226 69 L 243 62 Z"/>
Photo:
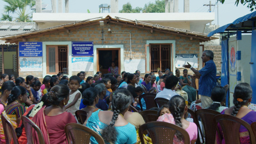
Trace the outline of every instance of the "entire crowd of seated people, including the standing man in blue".
<path fill-rule="evenodd" d="M 227 91 L 217 85 L 215 79 L 213 53 L 204 51 L 202 56 L 205 67 L 196 70 L 191 65 L 194 77 L 199 79 L 201 94 L 201 108 L 219 111 L 221 114 L 233 115 L 251 124 L 256 122 L 256 112 L 249 109 L 252 99 L 252 89 L 247 83 L 238 84 L 234 92 L 233 107 L 225 107 Z M 14 75 L 2 74 L 0 86 L 0 113 L 12 123 L 19 143 L 27 143 L 25 128 L 21 116 L 31 119 L 42 131 L 45 143 L 67 143 L 65 125 L 78 123 L 75 116 L 76 110 L 87 112 L 84 125 L 99 133 L 106 143 L 140 143 L 138 137 L 139 127 L 145 123 L 139 113 L 128 111 L 130 105 L 136 109 L 145 110 L 145 100 L 139 97 L 144 93 L 155 93 L 156 98 L 169 100 L 168 105 L 163 105 L 158 110 L 157 121 L 168 122 L 185 129 L 190 138 L 190 143 L 197 140 L 197 125 L 187 115 L 188 104 L 193 109 L 196 101 L 196 90 L 191 86 L 191 76 L 188 69 L 175 70 L 173 75 L 170 69 L 145 74 L 142 79 L 140 71 L 121 75 L 116 73 L 116 67 L 109 68 L 108 74 L 98 71 L 93 77 L 81 71 L 76 76 L 67 77 L 63 74 L 45 76 L 42 83 L 37 77 L 27 76 L 15 78 Z M 164 74 L 164 75 L 163 75 Z M 214 77 L 213 77 L 214 76 Z M 221 127 L 219 126 L 219 129 Z M 246 129 L 241 128 L 242 143 L 250 143 Z M 150 143 L 150 138 L 146 137 Z M 37 135 L 35 134 L 36 138 Z M 91 143 L 97 141 L 91 137 Z M 38 141 L 36 140 L 36 143 Z M 2 121 L 0 121 L 0 143 L 5 143 Z M 173 143 L 182 143 L 181 133 L 176 133 Z M 217 137 L 217 143 L 225 143 L 223 135 Z"/>

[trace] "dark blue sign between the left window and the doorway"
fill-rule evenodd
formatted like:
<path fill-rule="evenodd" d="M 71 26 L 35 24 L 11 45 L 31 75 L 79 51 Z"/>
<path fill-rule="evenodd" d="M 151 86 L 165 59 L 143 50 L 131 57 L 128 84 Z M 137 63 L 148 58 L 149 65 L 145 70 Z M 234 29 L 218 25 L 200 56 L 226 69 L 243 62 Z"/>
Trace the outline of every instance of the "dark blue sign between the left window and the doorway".
<path fill-rule="evenodd" d="M 72 42 L 72 56 L 93 56 L 93 42 Z"/>

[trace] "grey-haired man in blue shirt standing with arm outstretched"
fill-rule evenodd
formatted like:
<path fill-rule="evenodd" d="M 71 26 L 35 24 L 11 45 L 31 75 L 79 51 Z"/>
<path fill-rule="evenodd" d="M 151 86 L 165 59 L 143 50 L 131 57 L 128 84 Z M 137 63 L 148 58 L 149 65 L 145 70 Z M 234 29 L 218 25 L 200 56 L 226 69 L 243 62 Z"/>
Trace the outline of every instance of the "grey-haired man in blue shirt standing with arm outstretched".
<path fill-rule="evenodd" d="M 214 54 L 210 50 L 205 50 L 202 54 L 201 59 L 205 63 L 205 66 L 201 70 L 196 70 L 195 68 L 188 65 L 183 65 L 185 68 L 190 68 L 199 79 L 199 89 L 198 94 L 201 95 L 202 108 L 208 107 L 212 103 L 211 93 L 214 86 L 216 86 L 216 73 L 217 69 L 215 63 L 213 62 Z"/>

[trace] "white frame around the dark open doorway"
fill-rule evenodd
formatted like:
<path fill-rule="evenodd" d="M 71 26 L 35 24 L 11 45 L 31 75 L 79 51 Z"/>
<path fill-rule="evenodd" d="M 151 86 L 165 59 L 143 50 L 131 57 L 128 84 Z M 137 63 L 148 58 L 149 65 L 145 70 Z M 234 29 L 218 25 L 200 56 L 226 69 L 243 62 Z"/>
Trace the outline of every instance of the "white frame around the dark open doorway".
<path fill-rule="evenodd" d="M 93 74 L 99 70 L 98 50 L 119 50 L 118 72 L 124 71 L 124 45 L 93 45 Z"/>

